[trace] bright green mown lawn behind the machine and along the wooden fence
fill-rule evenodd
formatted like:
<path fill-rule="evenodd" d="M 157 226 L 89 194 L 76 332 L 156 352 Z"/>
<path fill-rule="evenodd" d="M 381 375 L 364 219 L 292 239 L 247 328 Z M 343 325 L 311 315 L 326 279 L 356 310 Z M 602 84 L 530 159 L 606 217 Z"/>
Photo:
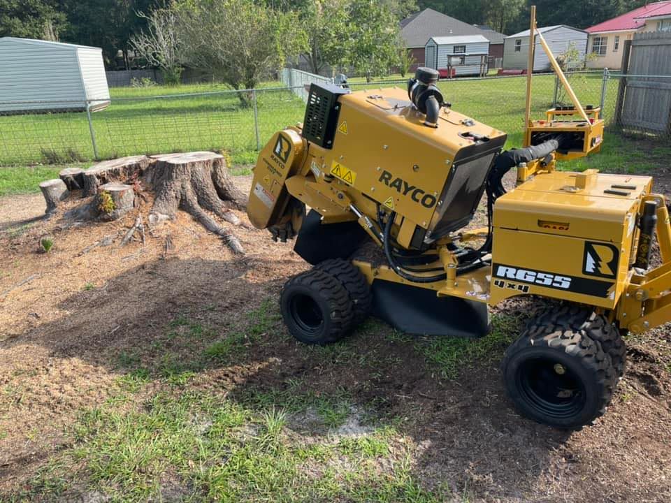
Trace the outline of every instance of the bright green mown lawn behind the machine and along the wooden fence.
<path fill-rule="evenodd" d="M 391 79 L 398 79 L 392 75 Z M 598 105 L 600 73 L 570 78 L 584 104 Z M 533 117 L 544 117 L 552 103 L 553 75 L 533 78 Z M 377 89 L 389 82 L 366 84 L 354 79 L 352 88 Z M 398 82 L 395 85 L 403 85 Z M 605 117 L 614 113 L 618 82 L 608 82 Z M 305 105 L 279 82 L 266 82 L 257 92 L 261 145 L 278 129 L 303 119 Z M 440 82 L 445 98 L 459 110 L 508 133 L 507 148 L 519 147 L 524 123 L 526 78 L 456 79 Z M 225 150 L 236 164 L 257 157 L 254 108 L 245 106 L 223 85 L 154 86 L 112 89 L 113 104 L 93 114 L 101 158 L 189 150 Z M 661 150 L 660 150 L 661 149 Z M 564 163 L 566 169 L 596 167 L 604 171 L 649 171 L 668 155 L 645 155 L 637 142 L 607 133 L 603 152 L 589 159 Z M 85 113 L 0 117 L 0 196 L 34 191 L 62 165 L 91 162 L 93 148 Z M 36 166 L 25 168 L 24 166 Z M 85 166 L 85 164 L 82 164 Z M 12 166 L 22 166 L 13 168 Z"/>

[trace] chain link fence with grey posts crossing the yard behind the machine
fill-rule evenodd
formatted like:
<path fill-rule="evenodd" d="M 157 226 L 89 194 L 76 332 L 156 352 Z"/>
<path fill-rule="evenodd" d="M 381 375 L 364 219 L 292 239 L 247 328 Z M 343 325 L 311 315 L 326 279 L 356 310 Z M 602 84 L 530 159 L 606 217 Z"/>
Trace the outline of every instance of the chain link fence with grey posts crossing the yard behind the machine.
<path fill-rule="evenodd" d="M 607 124 L 616 117 L 620 77 L 601 71 L 568 75 L 584 105 L 603 105 Z M 289 69 L 281 78 L 275 87 L 245 91 L 216 85 L 189 87 L 196 90 L 189 93 L 180 87 L 125 89 L 113 92 L 110 105 L 95 112 L 82 102 L 71 103 L 66 111 L 59 110 L 62 101 L 0 102 L 0 166 L 191 150 L 226 151 L 236 163 L 254 163 L 275 131 L 303 120 L 306 86 L 331 82 Z M 406 82 L 352 79 L 349 87 L 373 92 L 394 85 L 405 89 Z M 521 144 L 525 75 L 457 78 L 441 81 L 439 87 L 452 108 L 507 131 L 510 145 Z M 570 104 L 556 76 L 534 75 L 532 117 L 544 118 L 554 104 Z"/>

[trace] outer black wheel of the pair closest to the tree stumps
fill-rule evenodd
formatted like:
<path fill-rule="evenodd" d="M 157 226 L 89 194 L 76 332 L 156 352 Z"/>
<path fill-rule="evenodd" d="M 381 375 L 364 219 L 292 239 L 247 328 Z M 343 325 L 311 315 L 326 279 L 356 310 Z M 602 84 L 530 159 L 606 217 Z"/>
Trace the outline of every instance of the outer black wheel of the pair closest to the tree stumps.
<path fill-rule="evenodd" d="M 280 295 L 289 333 L 305 344 L 330 344 L 352 328 L 352 300 L 338 280 L 312 269 L 289 279 Z"/>

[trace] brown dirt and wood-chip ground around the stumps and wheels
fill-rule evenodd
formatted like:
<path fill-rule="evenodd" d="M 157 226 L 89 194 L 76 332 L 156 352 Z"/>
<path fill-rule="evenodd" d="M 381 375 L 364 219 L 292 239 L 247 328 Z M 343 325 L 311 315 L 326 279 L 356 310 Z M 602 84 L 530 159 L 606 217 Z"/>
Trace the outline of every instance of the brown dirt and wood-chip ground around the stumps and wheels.
<path fill-rule="evenodd" d="M 250 177 L 236 180 L 247 191 Z M 658 189 L 670 194 L 668 173 Z M 147 235 L 145 246 L 119 247 L 134 216 L 65 228 L 62 219 L 39 219 L 43 207 L 40 195 L 0 200 L 0 490 L 7 493 L 71 445 L 68 425 L 82 408 L 109 398 L 124 373 L 121 354 L 152 365 L 161 358 L 157 341 L 170 344 L 166 323 L 183 314 L 215 330 L 239 326 L 245 312 L 276 302 L 284 281 L 306 268 L 291 245 L 273 243 L 266 232 L 236 229 L 247 255 L 233 256 L 180 214 Z M 45 234 L 55 237 L 55 247 L 38 254 Z M 82 254 L 108 236 L 113 245 Z M 422 486 L 448 483 L 473 501 L 671 501 L 668 327 L 628 340 L 628 370 L 612 407 L 574 433 L 518 416 L 498 363 L 442 379 L 412 340 L 389 333 L 380 325 L 354 335 L 354 353 L 373 354 L 376 363 L 343 365 L 336 353 L 306 351 L 277 325 L 262 334 L 272 344 L 201 370 L 192 386 L 233 395 L 286 387 L 296 378 L 315 393 L 345 386 L 356 404 L 404 418 L 399 428 L 412 441 L 412 471 Z M 194 349 L 172 350 L 188 358 Z"/>

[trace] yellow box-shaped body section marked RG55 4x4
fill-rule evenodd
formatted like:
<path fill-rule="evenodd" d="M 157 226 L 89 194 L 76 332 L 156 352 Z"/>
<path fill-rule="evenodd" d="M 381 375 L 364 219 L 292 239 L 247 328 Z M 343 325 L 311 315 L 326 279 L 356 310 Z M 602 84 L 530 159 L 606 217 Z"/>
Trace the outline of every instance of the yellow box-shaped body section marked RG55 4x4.
<path fill-rule="evenodd" d="M 613 309 L 629 281 L 637 213 L 651 182 L 554 172 L 500 197 L 490 302 L 524 293 Z"/>

